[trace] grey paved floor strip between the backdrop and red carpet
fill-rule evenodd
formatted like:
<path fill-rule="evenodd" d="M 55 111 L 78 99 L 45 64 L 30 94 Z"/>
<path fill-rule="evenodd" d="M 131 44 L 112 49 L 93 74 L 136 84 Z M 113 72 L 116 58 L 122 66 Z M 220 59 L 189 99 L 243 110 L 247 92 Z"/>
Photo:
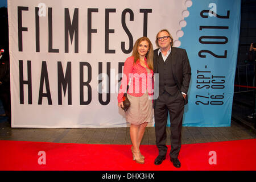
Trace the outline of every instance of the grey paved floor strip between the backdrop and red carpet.
<path fill-rule="evenodd" d="M 230 127 L 183 127 L 182 144 L 254 139 L 255 131 L 232 121 Z M 167 128 L 170 136 L 170 128 Z M 0 140 L 21 140 L 55 143 L 131 144 L 128 128 L 106 129 L 27 129 L 11 128 L 0 121 Z M 142 144 L 155 144 L 155 128 L 147 127 Z M 170 144 L 170 137 L 167 137 Z"/>

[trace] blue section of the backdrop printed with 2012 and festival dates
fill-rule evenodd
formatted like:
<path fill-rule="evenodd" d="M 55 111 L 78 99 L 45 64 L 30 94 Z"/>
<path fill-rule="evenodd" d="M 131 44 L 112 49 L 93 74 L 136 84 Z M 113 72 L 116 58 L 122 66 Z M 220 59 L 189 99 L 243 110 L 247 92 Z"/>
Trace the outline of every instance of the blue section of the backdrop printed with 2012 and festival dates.
<path fill-rule="evenodd" d="M 188 11 L 179 39 L 192 68 L 183 126 L 230 126 L 241 1 L 197 0 Z"/>

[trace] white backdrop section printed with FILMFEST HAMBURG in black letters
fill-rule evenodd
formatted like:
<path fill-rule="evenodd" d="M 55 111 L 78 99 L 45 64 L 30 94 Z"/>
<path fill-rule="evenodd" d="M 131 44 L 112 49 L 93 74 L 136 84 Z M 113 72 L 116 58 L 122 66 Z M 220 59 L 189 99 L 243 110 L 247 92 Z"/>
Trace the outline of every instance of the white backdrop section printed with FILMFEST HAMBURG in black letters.
<path fill-rule="evenodd" d="M 128 126 L 124 112 L 118 109 L 116 90 L 118 87 L 118 65 L 131 55 L 130 51 L 124 53 L 121 48 L 121 42 L 125 42 L 125 49 L 129 49 L 130 39 L 126 31 L 129 30 L 127 32 L 132 35 L 134 44 L 138 38 L 143 36 L 145 20 L 147 36 L 154 48 L 156 48 L 156 33 L 163 28 L 167 28 L 171 32 L 175 47 L 179 47 L 179 36 L 183 36 L 181 27 L 186 24 L 184 17 L 189 15 L 187 7 L 191 5 L 191 1 L 185 0 L 9 0 L 12 126 Z M 39 14 L 36 11 L 38 6 Z M 129 9 L 127 10 L 129 13 L 125 14 L 126 9 Z M 148 13 L 143 13 L 144 9 Z M 123 22 L 122 14 L 125 14 Z M 67 42 L 65 25 L 68 26 L 69 22 L 73 23 L 75 34 L 71 43 L 72 31 L 68 32 L 68 52 L 65 52 L 65 40 Z M 124 24 L 127 27 L 126 31 Z M 88 30 L 90 31 L 90 29 L 94 30 L 89 34 L 91 42 L 88 39 Z M 108 38 L 106 35 L 109 35 Z M 49 45 L 51 42 L 52 46 Z M 77 48 L 75 48 L 76 43 L 78 43 Z M 91 45 L 91 51 L 88 50 L 88 44 L 89 47 Z M 49 51 L 51 48 L 53 51 Z M 108 52 L 105 49 L 114 50 L 114 53 L 109 53 L 111 51 Z M 102 64 L 102 72 L 107 73 L 107 63 L 110 64 L 111 69 L 111 93 L 110 101 L 106 105 L 102 105 L 98 94 L 99 65 Z M 85 64 L 84 67 L 81 67 L 84 71 L 83 75 L 80 70 L 81 64 Z M 31 78 L 29 76 L 30 65 Z M 88 65 L 91 67 L 91 72 Z M 58 92 L 58 80 L 61 80 L 61 70 L 65 76 L 67 66 L 69 70 L 67 72 L 70 75 L 67 74 L 65 78 L 69 77 L 71 80 L 67 81 L 67 91 L 64 95 L 63 86 L 61 86 L 61 92 L 60 90 Z M 88 81 L 89 77 L 92 78 L 88 82 L 92 89 L 91 94 L 86 83 L 84 86 L 80 83 Z M 23 80 L 31 81 L 31 84 L 26 84 Z M 42 90 L 40 90 L 40 85 L 43 86 Z M 22 88 L 24 94 L 20 91 Z M 68 88 L 71 89 L 70 103 L 68 103 Z M 85 105 L 80 102 L 80 88 L 84 89 L 82 101 L 85 102 Z M 106 84 L 104 84 L 104 88 L 106 88 Z M 31 92 L 30 100 L 28 99 L 29 92 Z M 89 102 L 88 97 L 90 96 L 91 101 Z M 62 104 L 59 103 L 58 97 L 61 97 Z M 103 94 L 102 100 L 106 101 L 106 94 Z M 153 125 L 154 122 L 148 126 Z"/>

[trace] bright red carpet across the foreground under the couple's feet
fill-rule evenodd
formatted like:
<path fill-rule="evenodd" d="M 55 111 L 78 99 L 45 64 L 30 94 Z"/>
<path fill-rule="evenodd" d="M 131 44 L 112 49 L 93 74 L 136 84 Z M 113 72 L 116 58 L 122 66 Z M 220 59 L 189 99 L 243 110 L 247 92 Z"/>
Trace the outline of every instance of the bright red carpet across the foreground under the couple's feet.
<path fill-rule="evenodd" d="M 96 171 L 167 171 L 167 170 L 256 170 L 256 139 L 228 142 L 183 144 L 181 168 L 172 166 L 170 157 L 154 165 L 158 150 L 142 145 L 144 164 L 132 160 L 130 145 L 67 144 L 0 140 L 0 170 L 96 170 Z M 39 164 L 39 151 L 46 152 L 46 164 Z M 216 152 L 217 164 L 209 164 Z M 170 146 L 168 146 L 170 152 Z M 42 161 L 42 160 L 40 160 Z M 212 161 L 212 160 L 210 160 Z"/>

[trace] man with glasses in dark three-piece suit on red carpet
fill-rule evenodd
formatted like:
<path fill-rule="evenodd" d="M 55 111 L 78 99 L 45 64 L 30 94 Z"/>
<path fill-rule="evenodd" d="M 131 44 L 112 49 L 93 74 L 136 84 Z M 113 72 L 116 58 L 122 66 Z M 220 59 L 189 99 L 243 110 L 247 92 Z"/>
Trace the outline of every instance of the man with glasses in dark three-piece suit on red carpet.
<path fill-rule="evenodd" d="M 177 159 L 181 147 L 181 127 L 184 105 L 188 102 L 188 87 L 191 78 L 191 67 L 185 49 L 175 48 L 168 30 L 161 30 L 156 35 L 154 50 L 154 73 L 159 75 L 159 97 L 154 100 L 156 146 L 159 155 L 155 165 L 166 159 L 166 124 L 168 112 L 171 122 L 171 152 L 172 164 L 181 166 Z"/>

